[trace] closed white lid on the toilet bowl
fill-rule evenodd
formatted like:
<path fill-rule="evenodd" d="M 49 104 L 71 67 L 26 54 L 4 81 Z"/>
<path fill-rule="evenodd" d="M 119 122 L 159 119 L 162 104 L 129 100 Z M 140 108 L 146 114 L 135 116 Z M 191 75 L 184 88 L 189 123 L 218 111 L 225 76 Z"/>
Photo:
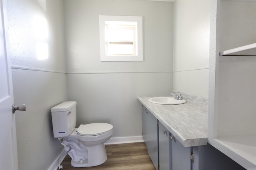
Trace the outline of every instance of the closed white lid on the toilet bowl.
<path fill-rule="evenodd" d="M 80 125 L 77 129 L 79 135 L 83 136 L 95 136 L 107 133 L 112 130 L 113 126 L 108 123 L 90 123 L 86 125 Z"/>

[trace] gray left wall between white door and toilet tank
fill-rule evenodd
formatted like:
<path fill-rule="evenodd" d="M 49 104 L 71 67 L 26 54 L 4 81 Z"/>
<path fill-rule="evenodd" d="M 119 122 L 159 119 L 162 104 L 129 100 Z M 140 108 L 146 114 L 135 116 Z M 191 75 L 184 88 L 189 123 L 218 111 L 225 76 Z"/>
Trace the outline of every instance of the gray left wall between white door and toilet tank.
<path fill-rule="evenodd" d="M 26 104 L 15 113 L 18 168 L 46 170 L 63 148 L 53 137 L 50 108 L 68 99 L 63 2 L 8 0 L 7 8 L 14 102 Z M 38 60 L 42 42 L 48 59 Z"/>

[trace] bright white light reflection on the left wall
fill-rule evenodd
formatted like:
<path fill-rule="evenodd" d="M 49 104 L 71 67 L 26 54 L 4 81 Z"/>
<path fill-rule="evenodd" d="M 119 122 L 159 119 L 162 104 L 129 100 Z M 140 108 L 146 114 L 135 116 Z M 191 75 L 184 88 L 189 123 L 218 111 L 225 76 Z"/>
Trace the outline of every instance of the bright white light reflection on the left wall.
<path fill-rule="evenodd" d="M 38 60 L 48 59 L 48 24 L 43 16 L 34 18 L 34 35 L 38 39 L 36 43 L 36 56 Z"/>

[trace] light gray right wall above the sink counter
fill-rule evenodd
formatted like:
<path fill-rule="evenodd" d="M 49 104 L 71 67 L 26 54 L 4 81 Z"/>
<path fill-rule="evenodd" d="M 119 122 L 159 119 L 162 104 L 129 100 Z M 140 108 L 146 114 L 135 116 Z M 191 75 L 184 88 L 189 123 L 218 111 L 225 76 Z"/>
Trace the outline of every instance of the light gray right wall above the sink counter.
<path fill-rule="evenodd" d="M 208 98 L 210 0 L 174 2 L 174 90 Z"/>

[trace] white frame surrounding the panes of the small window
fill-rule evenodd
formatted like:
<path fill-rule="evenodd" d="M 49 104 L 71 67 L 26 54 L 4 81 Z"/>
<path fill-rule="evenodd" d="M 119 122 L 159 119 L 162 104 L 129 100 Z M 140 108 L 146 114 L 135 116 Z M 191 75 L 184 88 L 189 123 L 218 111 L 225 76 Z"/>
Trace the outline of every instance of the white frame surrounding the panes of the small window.
<path fill-rule="evenodd" d="M 143 61 L 143 39 L 142 39 L 142 17 L 141 16 L 99 16 L 100 23 L 100 61 Z M 120 22 L 120 27 L 122 25 L 127 25 L 127 23 L 133 25 L 136 22 L 136 27 L 134 27 L 134 42 L 123 42 L 126 44 L 133 44 L 135 48 L 135 53 L 133 55 L 108 55 L 108 40 L 106 38 L 106 27 L 112 21 Z M 119 42 L 120 43 L 120 42 Z"/>

